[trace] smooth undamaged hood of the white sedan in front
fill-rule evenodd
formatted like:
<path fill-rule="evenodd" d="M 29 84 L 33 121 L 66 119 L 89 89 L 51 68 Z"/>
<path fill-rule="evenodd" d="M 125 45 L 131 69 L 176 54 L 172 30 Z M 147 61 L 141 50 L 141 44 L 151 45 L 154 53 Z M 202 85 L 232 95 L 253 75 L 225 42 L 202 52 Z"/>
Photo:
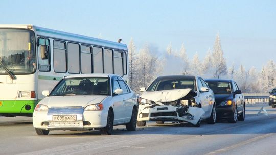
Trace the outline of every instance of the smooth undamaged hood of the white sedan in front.
<path fill-rule="evenodd" d="M 50 96 L 42 99 L 39 104 L 50 107 L 71 107 L 88 104 L 97 104 L 103 101 L 107 96 Z"/>

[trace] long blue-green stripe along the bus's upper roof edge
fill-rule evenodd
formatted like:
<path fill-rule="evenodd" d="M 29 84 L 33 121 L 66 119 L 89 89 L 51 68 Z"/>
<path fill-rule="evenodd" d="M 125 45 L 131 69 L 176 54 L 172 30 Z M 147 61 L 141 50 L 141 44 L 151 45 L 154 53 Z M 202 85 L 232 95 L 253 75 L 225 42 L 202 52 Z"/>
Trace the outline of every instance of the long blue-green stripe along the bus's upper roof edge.
<path fill-rule="evenodd" d="M 45 33 L 51 33 L 51 34 L 55 34 L 55 35 L 62 35 L 62 36 L 65 36 L 65 37 L 73 37 L 73 38 L 78 38 L 78 39 L 83 39 L 83 40 L 96 41 L 96 42 L 99 42 L 99 43 L 108 43 L 108 44 L 112 44 L 112 45 L 116 45 L 116 46 L 121 46 L 121 47 L 125 48 L 125 46 L 123 44 L 113 43 L 111 41 L 110 42 L 105 42 L 105 41 L 102 41 L 102 40 L 96 40 L 96 39 L 91 39 L 91 38 L 86 38 L 86 37 L 81 37 L 81 36 L 74 36 L 74 35 L 71 35 L 71 34 L 64 34 L 64 33 L 59 33 L 59 32 L 41 30 L 41 29 L 38 29 L 38 28 L 36 28 L 36 31 L 45 32 Z"/>

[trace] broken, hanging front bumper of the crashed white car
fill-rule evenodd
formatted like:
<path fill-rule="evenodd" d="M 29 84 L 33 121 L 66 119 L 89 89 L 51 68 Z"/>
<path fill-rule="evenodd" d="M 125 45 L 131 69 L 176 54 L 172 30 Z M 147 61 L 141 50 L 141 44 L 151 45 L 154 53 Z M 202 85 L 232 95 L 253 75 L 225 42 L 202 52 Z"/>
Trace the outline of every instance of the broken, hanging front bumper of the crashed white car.
<path fill-rule="evenodd" d="M 199 107 L 141 104 L 137 121 L 180 121 L 195 125 L 203 114 Z"/>

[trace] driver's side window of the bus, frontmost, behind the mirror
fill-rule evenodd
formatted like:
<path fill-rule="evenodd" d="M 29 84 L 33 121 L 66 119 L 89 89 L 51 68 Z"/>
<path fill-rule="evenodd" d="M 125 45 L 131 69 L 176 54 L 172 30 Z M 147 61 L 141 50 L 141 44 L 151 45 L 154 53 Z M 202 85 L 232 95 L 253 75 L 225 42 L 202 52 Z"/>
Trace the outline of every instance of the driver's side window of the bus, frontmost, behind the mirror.
<path fill-rule="evenodd" d="M 41 37 L 38 39 L 38 69 L 39 71 L 50 71 L 51 60 L 50 60 L 50 41 Z"/>

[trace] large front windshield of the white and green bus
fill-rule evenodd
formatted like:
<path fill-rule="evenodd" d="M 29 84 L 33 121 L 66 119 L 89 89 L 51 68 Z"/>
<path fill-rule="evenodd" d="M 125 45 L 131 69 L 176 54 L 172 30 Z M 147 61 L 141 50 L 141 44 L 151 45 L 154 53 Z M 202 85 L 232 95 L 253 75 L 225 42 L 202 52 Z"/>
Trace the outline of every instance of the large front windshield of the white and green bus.
<path fill-rule="evenodd" d="M 30 30 L 0 29 L 0 74 L 29 74 L 36 69 L 35 35 Z"/>

